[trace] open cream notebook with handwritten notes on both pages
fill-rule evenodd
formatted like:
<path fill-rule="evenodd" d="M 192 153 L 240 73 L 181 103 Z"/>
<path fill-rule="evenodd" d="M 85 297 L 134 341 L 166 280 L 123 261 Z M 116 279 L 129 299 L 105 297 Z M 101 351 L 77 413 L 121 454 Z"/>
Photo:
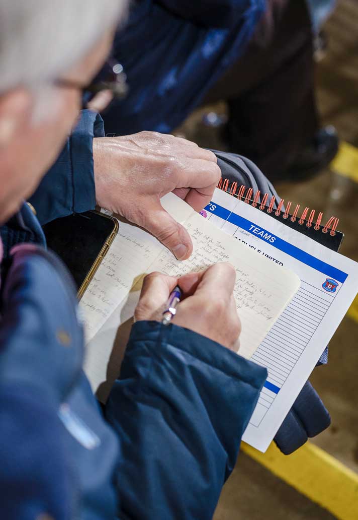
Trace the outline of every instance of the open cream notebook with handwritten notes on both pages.
<path fill-rule="evenodd" d="M 146 273 L 178 276 L 216 262 L 230 262 L 236 269 L 234 296 L 242 324 L 239 353 L 247 359 L 300 286 L 293 271 L 247 248 L 174 194 L 164 197 L 162 205 L 190 233 L 191 257 L 177 261 L 149 233 L 120 219 L 118 235 L 80 302 L 87 343 L 85 371 L 102 401 L 118 376 Z"/>

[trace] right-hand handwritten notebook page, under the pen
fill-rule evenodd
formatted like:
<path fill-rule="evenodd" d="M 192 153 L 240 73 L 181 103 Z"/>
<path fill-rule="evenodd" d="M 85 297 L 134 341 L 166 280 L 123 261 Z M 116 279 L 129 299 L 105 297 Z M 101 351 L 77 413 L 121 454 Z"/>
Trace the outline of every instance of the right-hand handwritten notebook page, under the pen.
<path fill-rule="evenodd" d="M 177 261 L 163 250 L 149 269 L 180 276 L 217 262 L 231 263 L 236 270 L 234 296 L 242 325 L 239 353 L 249 359 L 297 292 L 300 280 L 292 271 L 257 255 L 197 213 L 184 226 L 194 245 L 190 258 Z"/>

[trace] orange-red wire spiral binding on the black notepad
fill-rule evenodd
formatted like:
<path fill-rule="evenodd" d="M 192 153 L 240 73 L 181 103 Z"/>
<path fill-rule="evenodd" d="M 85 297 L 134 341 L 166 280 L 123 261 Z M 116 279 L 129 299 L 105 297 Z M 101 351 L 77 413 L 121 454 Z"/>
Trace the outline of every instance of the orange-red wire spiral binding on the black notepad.
<path fill-rule="evenodd" d="M 244 185 L 238 186 L 238 183 L 232 183 L 231 188 L 229 190 L 228 189 L 229 188 L 229 179 L 221 178 L 219 180 L 217 188 L 219 188 L 223 191 L 226 191 L 227 193 L 229 193 L 233 197 L 236 197 L 239 200 L 243 200 L 243 202 L 245 202 L 246 204 L 251 204 L 252 206 L 257 207 L 261 211 L 266 210 L 267 213 L 274 212 L 274 214 L 276 216 L 281 215 L 282 218 L 284 218 L 284 219 L 291 217 L 292 222 L 296 222 L 296 220 L 298 218 L 298 224 L 300 226 L 303 226 L 306 223 L 307 227 L 312 228 L 315 231 L 319 231 L 321 229 L 321 222 L 322 222 L 322 218 L 323 218 L 322 211 L 318 214 L 318 217 L 314 223 L 315 210 L 311 210 L 308 219 L 306 219 L 307 214 L 309 212 L 309 207 L 305 207 L 304 211 L 302 212 L 301 216 L 299 217 L 298 216 L 298 211 L 299 211 L 299 207 L 300 207 L 299 204 L 296 205 L 295 211 L 293 212 L 292 215 L 290 215 L 290 209 L 291 209 L 292 202 L 288 201 L 286 204 L 286 209 L 283 210 L 282 208 L 283 208 L 283 204 L 284 204 L 284 199 L 280 199 L 277 209 L 274 210 L 273 206 L 276 202 L 276 197 L 274 195 L 272 195 L 270 202 L 267 203 L 268 198 L 269 198 L 268 193 L 264 193 L 263 196 L 261 197 L 260 191 L 256 191 L 256 193 L 254 193 L 253 188 L 246 188 L 246 186 L 244 186 Z M 328 231 L 329 231 L 329 235 L 334 237 L 336 235 L 338 223 L 339 223 L 339 218 L 337 218 L 337 217 L 329 218 L 326 222 L 326 225 L 322 227 L 322 232 L 328 233 Z"/>

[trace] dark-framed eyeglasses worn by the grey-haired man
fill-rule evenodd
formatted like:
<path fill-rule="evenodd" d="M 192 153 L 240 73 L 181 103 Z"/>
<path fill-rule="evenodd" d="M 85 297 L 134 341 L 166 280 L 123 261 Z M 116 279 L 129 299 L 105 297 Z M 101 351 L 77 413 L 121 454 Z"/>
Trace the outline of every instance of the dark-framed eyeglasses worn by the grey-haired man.
<path fill-rule="evenodd" d="M 75 81 L 58 79 L 55 85 L 64 88 L 78 88 L 82 91 L 82 108 L 88 107 L 88 103 L 95 102 L 95 97 L 109 90 L 113 98 L 123 99 L 128 94 L 127 75 L 123 71 L 123 66 L 113 59 L 108 59 L 101 71 L 88 85 L 81 85 Z"/>

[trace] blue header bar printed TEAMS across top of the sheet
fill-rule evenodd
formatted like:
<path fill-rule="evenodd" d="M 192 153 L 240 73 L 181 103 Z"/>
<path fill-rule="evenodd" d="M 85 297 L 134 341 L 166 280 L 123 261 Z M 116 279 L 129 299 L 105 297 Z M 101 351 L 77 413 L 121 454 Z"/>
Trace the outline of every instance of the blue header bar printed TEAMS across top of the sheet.
<path fill-rule="evenodd" d="M 212 208 L 212 209 L 211 209 Z M 205 207 L 206 211 L 209 211 L 210 213 L 213 213 L 214 215 L 221 216 L 228 213 L 228 216 L 221 217 L 227 220 L 227 222 L 230 222 L 231 224 L 234 224 L 235 226 L 238 226 L 245 231 L 249 231 L 252 236 L 258 237 L 261 240 L 263 240 L 266 243 L 269 243 L 274 248 L 279 249 L 280 251 L 283 251 L 284 253 L 292 256 L 293 258 L 296 258 L 302 264 L 306 264 L 313 269 L 316 269 L 319 272 L 322 272 L 324 275 L 329 276 L 335 280 L 337 280 L 340 283 L 343 283 L 346 281 L 348 275 L 346 272 L 341 271 L 340 269 L 337 269 L 336 267 L 327 264 L 326 262 L 323 262 L 319 258 L 316 258 L 315 256 L 310 255 L 309 253 L 306 253 L 305 251 L 302 251 L 301 249 L 297 248 L 295 245 L 290 244 L 289 242 L 286 242 L 285 240 L 282 240 L 280 237 L 277 237 L 276 235 L 272 235 L 272 232 L 267 231 L 266 229 L 262 228 L 261 226 L 258 226 L 258 224 L 254 222 L 250 222 L 250 220 L 247 220 L 244 217 L 241 217 L 240 215 L 237 215 L 236 213 L 232 213 L 228 210 L 226 210 L 224 207 L 219 206 L 218 204 L 211 203 L 208 206 Z M 224 210 L 224 211 L 223 211 Z M 220 213 L 220 214 L 219 214 Z M 274 241 L 267 242 L 267 240 L 263 236 L 257 235 L 257 233 L 254 233 L 252 231 L 252 228 L 257 228 L 261 231 L 264 231 L 263 234 L 270 235 L 271 237 L 274 237 Z"/>

